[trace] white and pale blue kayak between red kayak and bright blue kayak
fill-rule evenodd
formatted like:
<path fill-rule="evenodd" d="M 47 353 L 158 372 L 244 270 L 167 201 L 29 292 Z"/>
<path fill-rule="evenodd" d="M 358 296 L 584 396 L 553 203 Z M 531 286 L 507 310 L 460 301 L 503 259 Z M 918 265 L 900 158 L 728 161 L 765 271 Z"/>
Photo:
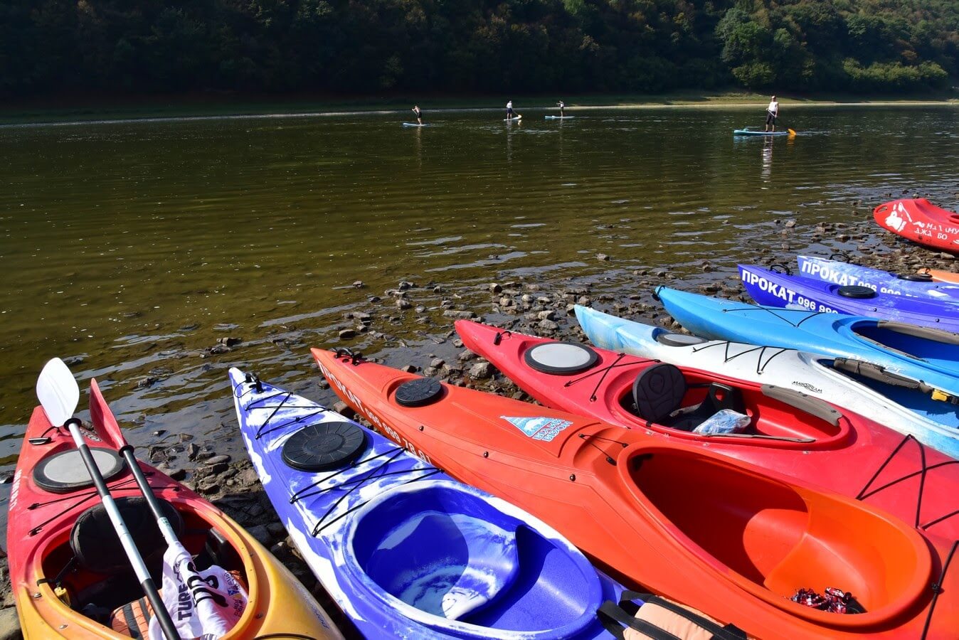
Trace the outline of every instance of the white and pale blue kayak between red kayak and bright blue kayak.
<path fill-rule="evenodd" d="M 959 458 L 956 405 L 932 400 L 929 393 L 920 390 L 921 385 L 915 379 L 882 376 L 875 367 L 850 358 L 834 359 L 783 347 L 708 340 L 579 305 L 575 312 L 579 326 L 590 341 L 602 349 L 799 391 Z"/>

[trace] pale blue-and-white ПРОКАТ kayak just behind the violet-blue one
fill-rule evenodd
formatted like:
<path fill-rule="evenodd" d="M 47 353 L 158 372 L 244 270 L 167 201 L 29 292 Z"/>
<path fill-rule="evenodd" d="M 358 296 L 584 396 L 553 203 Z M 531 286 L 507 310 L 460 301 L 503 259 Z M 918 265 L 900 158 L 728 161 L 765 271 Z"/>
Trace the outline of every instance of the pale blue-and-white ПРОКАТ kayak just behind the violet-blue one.
<path fill-rule="evenodd" d="M 891 273 L 868 266 L 796 256 L 799 275 L 838 286 L 868 286 L 879 293 L 925 298 L 938 302 L 959 302 L 959 285 L 932 280 L 927 273 Z"/>

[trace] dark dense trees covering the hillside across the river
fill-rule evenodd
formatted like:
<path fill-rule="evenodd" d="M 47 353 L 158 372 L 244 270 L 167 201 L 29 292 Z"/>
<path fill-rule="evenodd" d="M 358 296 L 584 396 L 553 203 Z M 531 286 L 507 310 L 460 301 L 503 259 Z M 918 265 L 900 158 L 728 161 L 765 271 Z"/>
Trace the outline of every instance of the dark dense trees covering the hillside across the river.
<path fill-rule="evenodd" d="M 947 86 L 954 0 L 0 0 L 0 92 Z"/>

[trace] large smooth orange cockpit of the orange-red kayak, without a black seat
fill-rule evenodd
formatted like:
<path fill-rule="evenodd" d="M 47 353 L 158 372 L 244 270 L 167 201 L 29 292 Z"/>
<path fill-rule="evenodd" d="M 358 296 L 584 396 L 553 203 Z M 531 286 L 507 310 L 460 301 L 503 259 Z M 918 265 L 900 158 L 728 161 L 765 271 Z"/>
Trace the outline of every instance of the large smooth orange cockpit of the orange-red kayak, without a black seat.
<path fill-rule="evenodd" d="M 793 615 L 834 626 L 877 624 L 927 591 L 924 540 L 852 499 L 792 486 L 691 450 L 637 446 L 620 473 L 668 535 L 713 571 Z M 799 589 L 853 594 L 864 613 L 796 604 Z"/>

